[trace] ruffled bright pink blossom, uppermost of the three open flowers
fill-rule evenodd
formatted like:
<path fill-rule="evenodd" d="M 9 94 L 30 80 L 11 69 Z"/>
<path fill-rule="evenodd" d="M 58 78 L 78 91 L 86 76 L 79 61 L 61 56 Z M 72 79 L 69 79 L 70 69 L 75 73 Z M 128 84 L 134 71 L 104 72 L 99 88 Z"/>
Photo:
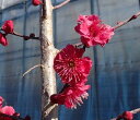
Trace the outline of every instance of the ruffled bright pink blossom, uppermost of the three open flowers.
<path fill-rule="evenodd" d="M 75 32 L 81 35 L 81 41 L 86 46 L 104 46 L 114 35 L 114 28 L 103 24 L 96 15 L 80 15 Z"/>

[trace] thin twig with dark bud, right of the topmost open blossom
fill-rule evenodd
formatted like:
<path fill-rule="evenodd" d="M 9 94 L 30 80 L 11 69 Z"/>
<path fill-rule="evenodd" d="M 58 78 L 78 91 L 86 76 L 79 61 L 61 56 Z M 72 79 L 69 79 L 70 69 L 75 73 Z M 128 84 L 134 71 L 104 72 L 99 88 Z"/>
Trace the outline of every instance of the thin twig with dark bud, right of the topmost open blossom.
<path fill-rule="evenodd" d="M 132 20 L 136 20 L 139 16 L 140 16 L 140 12 L 133 14 L 130 19 L 127 19 L 126 21 L 119 22 L 116 26 L 114 26 L 114 29 L 117 29 L 117 28 L 126 25 L 127 23 L 129 23 Z"/>

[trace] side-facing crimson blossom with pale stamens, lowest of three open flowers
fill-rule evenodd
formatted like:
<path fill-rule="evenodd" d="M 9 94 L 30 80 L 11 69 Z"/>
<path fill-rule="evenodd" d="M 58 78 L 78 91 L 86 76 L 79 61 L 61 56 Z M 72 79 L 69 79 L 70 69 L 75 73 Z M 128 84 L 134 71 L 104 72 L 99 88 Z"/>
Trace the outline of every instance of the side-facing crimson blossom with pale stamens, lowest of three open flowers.
<path fill-rule="evenodd" d="M 65 105 L 67 108 L 77 108 L 77 105 L 83 104 L 82 99 L 88 98 L 89 88 L 90 85 L 84 84 L 68 86 L 60 94 L 51 95 L 50 100 L 54 104 Z"/>

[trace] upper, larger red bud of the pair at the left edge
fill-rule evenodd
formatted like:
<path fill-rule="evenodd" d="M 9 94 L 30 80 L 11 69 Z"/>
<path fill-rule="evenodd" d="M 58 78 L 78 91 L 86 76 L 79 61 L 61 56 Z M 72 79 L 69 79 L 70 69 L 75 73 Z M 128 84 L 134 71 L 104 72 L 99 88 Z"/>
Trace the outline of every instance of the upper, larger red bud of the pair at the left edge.
<path fill-rule="evenodd" d="M 2 31 L 4 31 L 5 34 L 13 33 L 13 28 L 14 28 L 13 21 L 11 20 L 5 21 L 4 24 L 2 25 Z"/>

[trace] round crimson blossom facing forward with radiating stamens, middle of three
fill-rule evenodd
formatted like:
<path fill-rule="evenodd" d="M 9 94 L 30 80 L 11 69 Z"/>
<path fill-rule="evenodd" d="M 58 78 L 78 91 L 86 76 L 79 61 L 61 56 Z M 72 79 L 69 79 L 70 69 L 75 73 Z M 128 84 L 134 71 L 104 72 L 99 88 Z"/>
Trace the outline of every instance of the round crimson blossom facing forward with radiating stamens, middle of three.
<path fill-rule="evenodd" d="M 63 83 L 75 84 L 86 81 L 92 68 L 92 60 L 82 58 L 84 50 L 67 45 L 55 58 L 54 69 Z"/>

